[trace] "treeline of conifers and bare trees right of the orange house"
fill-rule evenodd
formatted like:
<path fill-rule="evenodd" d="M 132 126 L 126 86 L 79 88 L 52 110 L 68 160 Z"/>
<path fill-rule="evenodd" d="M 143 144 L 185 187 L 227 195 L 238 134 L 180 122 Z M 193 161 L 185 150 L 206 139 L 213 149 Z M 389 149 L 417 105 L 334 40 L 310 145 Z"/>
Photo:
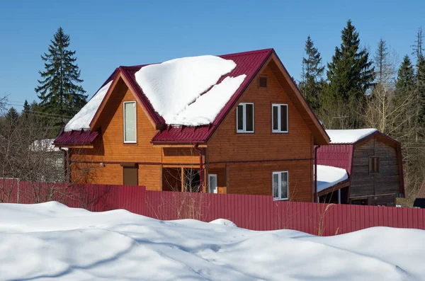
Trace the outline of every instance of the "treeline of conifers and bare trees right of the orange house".
<path fill-rule="evenodd" d="M 424 35 L 412 38 L 412 53 L 402 59 L 384 39 L 372 54 L 361 44 L 351 21 L 341 30 L 341 45 L 322 62 L 310 36 L 305 41 L 298 87 L 327 129 L 373 127 L 402 143 L 404 183 L 412 205 L 425 176 Z"/>

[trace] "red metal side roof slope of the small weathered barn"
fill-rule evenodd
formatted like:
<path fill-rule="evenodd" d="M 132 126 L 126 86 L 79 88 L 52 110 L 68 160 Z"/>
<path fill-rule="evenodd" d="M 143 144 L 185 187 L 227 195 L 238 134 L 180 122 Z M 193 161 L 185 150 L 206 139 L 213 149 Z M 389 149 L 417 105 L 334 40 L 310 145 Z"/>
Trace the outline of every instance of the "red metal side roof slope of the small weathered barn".
<path fill-rule="evenodd" d="M 352 144 L 329 144 L 322 145 L 317 149 L 317 164 L 344 168 L 351 175 L 351 163 L 353 159 Z"/>

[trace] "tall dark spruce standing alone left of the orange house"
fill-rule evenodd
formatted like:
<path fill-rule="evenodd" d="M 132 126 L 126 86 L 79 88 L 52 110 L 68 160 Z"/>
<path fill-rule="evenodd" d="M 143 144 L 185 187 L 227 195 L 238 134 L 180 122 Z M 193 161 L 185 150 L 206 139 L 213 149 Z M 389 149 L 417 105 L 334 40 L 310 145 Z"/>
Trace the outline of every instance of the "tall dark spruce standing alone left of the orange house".
<path fill-rule="evenodd" d="M 80 70 L 75 51 L 69 50 L 69 35 L 59 28 L 51 40 L 48 52 L 41 56 L 45 71 L 39 71 L 40 86 L 35 88 L 40 106 L 46 113 L 64 116 L 56 125 L 64 125 L 67 116 L 77 113 L 85 104 L 84 88 L 79 86 Z"/>

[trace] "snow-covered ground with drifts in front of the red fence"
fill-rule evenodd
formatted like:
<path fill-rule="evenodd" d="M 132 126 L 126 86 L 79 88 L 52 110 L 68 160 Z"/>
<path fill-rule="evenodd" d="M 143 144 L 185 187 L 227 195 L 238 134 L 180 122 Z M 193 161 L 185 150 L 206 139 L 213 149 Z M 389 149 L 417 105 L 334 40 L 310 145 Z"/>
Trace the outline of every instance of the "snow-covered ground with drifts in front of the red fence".
<path fill-rule="evenodd" d="M 425 231 L 332 237 L 0 204 L 0 280 L 425 280 Z"/>

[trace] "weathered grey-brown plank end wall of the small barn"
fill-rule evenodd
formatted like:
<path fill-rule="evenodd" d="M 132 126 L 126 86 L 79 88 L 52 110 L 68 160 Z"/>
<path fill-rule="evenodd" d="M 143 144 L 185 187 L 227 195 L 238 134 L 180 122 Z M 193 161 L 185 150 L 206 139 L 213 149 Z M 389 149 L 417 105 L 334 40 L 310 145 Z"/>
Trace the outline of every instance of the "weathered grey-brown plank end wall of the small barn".
<path fill-rule="evenodd" d="M 379 156 L 379 173 L 369 174 L 369 156 Z M 373 137 L 354 147 L 350 197 L 401 193 L 399 176 L 397 149 L 382 137 Z"/>

